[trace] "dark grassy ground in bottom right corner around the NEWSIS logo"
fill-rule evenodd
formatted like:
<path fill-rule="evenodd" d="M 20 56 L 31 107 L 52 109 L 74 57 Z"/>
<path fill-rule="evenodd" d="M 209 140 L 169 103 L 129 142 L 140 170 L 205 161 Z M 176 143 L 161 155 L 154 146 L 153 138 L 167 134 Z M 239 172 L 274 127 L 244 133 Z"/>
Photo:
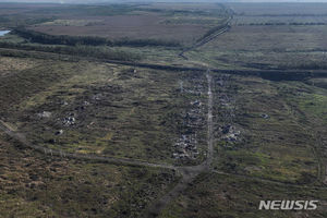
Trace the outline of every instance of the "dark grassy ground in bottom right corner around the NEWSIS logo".
<path fill-rule="evenodd" d="M 234 175 L 202 174 L 159 216 L 181 217 L 249 217 L 295 218 L 296 210 L 258 210 L 259 201 L 318 199 L 317 210 L 305 211 L 313 218 L 326 216 L 326 192 L 322 189 L 293 187 Z"/>

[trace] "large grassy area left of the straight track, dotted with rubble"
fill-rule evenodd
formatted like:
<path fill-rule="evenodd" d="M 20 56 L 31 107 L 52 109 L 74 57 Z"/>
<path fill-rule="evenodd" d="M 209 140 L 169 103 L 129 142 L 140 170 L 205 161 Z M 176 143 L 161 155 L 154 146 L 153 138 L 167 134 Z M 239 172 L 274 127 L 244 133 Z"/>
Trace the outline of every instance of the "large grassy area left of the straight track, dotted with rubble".
<path fill-rule="evenodd" d="M 11 112 L 3 116 L 31 142 L 65 152 L 173 164 L 173 144 L 184 131 L 182 114 L 191 101 L 206 100 L 204 94 L 180 93 L 181 81 L 190 90 L 195 83 L 205 84 L 199 73 L 186 77 L 87 61 L 51 62 L 48 68 L 46 62 L 5 78 L 2 100 L 16 101 L 5 106 Z M 26 86 L 32 80 L 34 85 Z M 24 84 L 25 92 L 15 92 L 15 84 Z M 50 118 L 40 118 L 43 111 L 51 112 Z M 72 113 L 76 123 L 65 125 Z M 62 135 L 56 135 L 59 130 Z M 205 132 L 205 126 L 198 130 L 197 162 L 204 158 Z"/>

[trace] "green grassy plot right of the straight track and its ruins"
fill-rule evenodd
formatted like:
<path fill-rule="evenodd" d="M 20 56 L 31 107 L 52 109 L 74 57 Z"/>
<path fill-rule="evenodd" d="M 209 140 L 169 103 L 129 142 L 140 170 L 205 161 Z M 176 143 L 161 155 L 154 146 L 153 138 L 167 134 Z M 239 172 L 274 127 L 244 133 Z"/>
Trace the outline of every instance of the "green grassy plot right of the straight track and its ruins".
<path fill-rule="evenodd" d="M 288 89 L 282 88 L 286 84 Z M 218 93 L 228 92 L 227 95 L 235 101 L 235 118 L 227 123 L 241 131 L 241 138 L 234 143 L 217 142 L 216 169 L 283 182 L 315 182 L 320 162 L 314 150 L 319 141 L 311 128 L 319 124 L 323 128 L 324 119 L 312 122 L 306 116 L 310 111 L 294 113 L 294 110 L 304 109 L 303 102 L 291 104 L 284 92 L 304 86 L 307 89 L 303 87 L 302 93 L 305 93 L 312 92 L 312 87 L 299 82 L 286 84 L 234 77 L 229 84 L 234 90 L 221 90 L 218 86 Z M 219 101 L 217 98 L 216 104 Z M 316 110 L 325 111 L 324 104 L 317 105 Z M 221 113 L 221 110 L 226 108 L 217 106 L 216 111 Z M 264 119 L 262 114 L 269 118 Z M 219 125 L 226 123 L 220 116 L 217 116 L 217 121 Z"/>

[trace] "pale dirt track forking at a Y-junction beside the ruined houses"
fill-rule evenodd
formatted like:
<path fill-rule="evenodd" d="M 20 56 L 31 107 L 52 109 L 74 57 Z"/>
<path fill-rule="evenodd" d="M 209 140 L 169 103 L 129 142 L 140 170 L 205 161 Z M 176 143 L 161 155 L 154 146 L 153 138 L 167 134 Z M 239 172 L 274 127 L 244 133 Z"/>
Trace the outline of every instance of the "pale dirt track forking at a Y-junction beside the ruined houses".
<path fill-rule="evenodd" d="M 114 157 L 102 157 L 96 155 L 80 155 L 80 154 L 72 154 L 72 153 L 64 153 L 60 149 L 49 149 L 47 147 L 43 147 L 39 145 L 31 144 L 24 134 L 13 130 L 5 122 L 0 120 L 0 130 L 3 131 L 9 136 L 15 138 L 24 146 L 38 150 L 45 155 L 49 156 L 59 156 L 62 158 L 72 158 L 72 159 L 85 159 L 85 160 L 94 160 L 100 162 L 109 162 L 114 165 L 126 165 L 126 166 L 143 166 L 143 167 L 155 167 L 155 168 L 164 168 L 164 169 L 171 169 L 177 170 L 178 174 L 181 175 L 181 180 L 179 183 L 169 191 L 166 195 L 157 199 L 144 214 L 143 217 L 157 217 L 160 211 L 173 199 L 175 198 L 181 192 L 183 192 L 187 185 L 202 172 L 207 172 L 210 169 L 210 164 L 213 161 L 213 92 L 211 92 L 211 75 L 209 70 L 206 73 L 207 82 L 208 82 L 208 113 L 207 113 L 207 126 L 208 126 L 208 150 L 207 150 L 207 158 L 206 160 L 197 166 L 191 167 L 175 167 L 170 165 L 164 164 L 153 164 L 146 162 L 141 160 L 134 159 L 123 159 L 123 158 L 114 158 Z"/>

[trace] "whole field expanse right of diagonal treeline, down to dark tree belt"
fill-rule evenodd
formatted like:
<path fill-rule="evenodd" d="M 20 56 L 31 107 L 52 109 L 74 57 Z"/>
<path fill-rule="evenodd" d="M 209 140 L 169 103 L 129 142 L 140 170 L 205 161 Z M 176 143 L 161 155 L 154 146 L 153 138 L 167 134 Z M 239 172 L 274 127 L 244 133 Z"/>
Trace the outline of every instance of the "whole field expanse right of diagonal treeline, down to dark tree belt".
<path fill-rule="evenodd" d="M 185 56 L 229 70 L 326 69 L 325 33 L 324 26 L 232 26 Z"/>

